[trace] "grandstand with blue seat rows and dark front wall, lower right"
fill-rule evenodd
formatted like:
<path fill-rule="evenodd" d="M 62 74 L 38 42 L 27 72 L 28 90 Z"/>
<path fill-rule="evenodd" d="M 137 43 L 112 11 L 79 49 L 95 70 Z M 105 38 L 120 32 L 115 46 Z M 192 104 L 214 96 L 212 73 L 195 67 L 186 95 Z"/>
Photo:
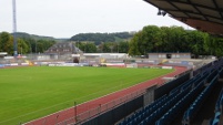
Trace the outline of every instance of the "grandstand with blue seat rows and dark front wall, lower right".
<path fill-rule="evenodd" d="M 194 74 L 191 77 L 189 77 L 190 72 Z M 128 107 L 130 103 L 135 103 L 141 107 L 119 117 L 120 119 L 114 114 L 119 114 L 124 108 L 122 107 L 123 105 L 116 107 L 121 111 L 114 108 L 81 124 L 221 125 L 223 90 L 221 91 L 220 88 L 223 86 L 221 81 L 223 76 L 223 59 L 190 72 L 153 90 L 154 100 L 149 104 L 143 105 L 140 103 L 141 101 L 136 100 L 123 104 Z M 213 95 L 213 93 L 216 94 Z M 210 98 L 212 102 L 210 102 Z M 213 105 L 213 98 L 215 98 L 215 105 Z M 140 96 L 138 100 L 143 100 L 143 97 Z M 205 115 L 202 114 L 203 116 L 201 117 L 199 115 L 201 113 L 205 113 Z"/>

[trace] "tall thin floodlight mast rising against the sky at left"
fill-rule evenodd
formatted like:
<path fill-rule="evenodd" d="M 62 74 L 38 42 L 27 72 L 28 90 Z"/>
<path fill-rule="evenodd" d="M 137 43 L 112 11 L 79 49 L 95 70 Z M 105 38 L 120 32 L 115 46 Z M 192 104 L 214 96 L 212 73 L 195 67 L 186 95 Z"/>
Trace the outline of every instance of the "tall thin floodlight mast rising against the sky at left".
<path fill-rule="evenodd" d="M 17 6 L 16 0 L 12 0 L 12 12 L 13 12 L 13 50 L 14 50 L 14 56 L 17 56 L 18 48 L 17 48 Z"/>

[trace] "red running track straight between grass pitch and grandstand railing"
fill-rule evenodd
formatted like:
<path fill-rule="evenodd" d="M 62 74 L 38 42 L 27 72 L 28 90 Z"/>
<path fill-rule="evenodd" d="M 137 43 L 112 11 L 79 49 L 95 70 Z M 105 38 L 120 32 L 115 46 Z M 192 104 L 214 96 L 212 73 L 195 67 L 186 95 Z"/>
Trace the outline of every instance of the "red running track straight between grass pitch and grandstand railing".
<path fill-rule="evenodd" d="M 175 76 L 180 73 L 185 72 L 186 69 L 185 67 L 175 67 L 175 71 L 166 74 L 164 76 Z M 81 113 L 84 113 L 89 110 L 93 110 L 93 108 L 98 108 L 99 105 L 103 105 L 103 104 L 108 104 L 108 102 L 114 101 L 114 100 L 119 100 L 122 96 L 126 96 L 130 93 L 134 93 L 134 92 L 142 92 L 145 88 L 153 86 L 155 84 L 162 84 L 164 81 L 162 80 L 163 76 L 160 76 L 158 79 L 154 80 L 150 80 L 140 84 L 136 84 L 134 86 L 128 87 L 125 90 L 122 91 L 118 91 L 115 93 L 85 102 L 83 104 L 78 105 L 75 108 L 74 107 L 70 107 L 68 110 L 64 111 L 60 111 L 57 113 L 53 113 L 51 115 L 31 121 L 29 123 L 26 123 L 26 125 L 54 125 L 58 124 L 60 122 L 63 122 L 68 118 L 72 118 L 74 115 L 79 115 Z M 71 122 L 75 122 L 74 118 Z M 70 123 L 70 122 L 69 122 Z"/>

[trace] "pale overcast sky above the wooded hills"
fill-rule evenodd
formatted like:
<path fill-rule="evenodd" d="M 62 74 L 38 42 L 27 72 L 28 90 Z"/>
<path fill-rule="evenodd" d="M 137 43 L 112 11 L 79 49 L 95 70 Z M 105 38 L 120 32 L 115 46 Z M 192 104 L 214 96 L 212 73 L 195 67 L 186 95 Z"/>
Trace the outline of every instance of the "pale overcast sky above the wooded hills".
<path fill-rule="evenodd" d="M 78 33 L 140 31 L 145 25 L 190 27 L 158 15 L 143 0 L 17 0 L 17 31 L 71 38 Z M 0 0 L 0 32 L 12 32 L 12 0 Z"/>

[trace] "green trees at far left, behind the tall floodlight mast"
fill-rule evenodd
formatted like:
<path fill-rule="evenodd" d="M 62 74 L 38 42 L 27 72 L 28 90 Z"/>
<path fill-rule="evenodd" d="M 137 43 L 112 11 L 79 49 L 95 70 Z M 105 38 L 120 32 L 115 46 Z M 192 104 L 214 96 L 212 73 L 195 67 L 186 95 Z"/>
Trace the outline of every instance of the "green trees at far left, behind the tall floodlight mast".
<path fill-rule="evenodd" d="M 42 53 L 48 50 L 55 41 L 53 40 L 34 40 L 32 38 L 18 38 L 18 54 Z M 0 33 L 0 52 L 8 52 L 13 55 L 13 37 L 8 32 Z"/>

